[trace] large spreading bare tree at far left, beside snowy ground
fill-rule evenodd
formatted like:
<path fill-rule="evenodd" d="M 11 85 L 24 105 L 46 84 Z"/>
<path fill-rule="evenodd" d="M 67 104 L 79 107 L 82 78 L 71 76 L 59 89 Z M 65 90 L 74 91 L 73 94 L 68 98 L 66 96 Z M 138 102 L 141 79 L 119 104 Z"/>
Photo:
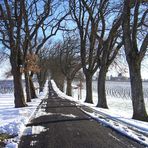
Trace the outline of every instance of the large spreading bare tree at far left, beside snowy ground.
<path fill-rule="evenodd" d="M 56 0 L 4 0 L 0 4 L 0 41 L 10 49 L 16 107 L 25 106 L 20 68 L 25 66 L 27 54 L 32 54 L 34 48 L 37 53 L 44 43 L 57 33 L 62 20 L 67 16 L 66 9 L 59 4 Z M 37 45 L 39 36 L 42 36 L 42 40 Z M 30 98 L 29 95 L 28 97 Z"/>

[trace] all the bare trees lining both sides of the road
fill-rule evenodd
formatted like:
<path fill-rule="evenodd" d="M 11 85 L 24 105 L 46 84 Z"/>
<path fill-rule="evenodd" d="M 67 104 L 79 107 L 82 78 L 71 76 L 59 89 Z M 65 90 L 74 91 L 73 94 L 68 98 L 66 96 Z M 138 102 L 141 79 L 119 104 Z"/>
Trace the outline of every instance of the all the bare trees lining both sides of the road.
<path fill-rule="evenodd" d="M 92 77 L 99 69 L 97 106 L 108 108 L 106 73 L 119 50 L 124 49 L 131 79 L 133 118 L 148 120 L 140 71 L 148 45 L 147 5 L 144 0 L 1 2 L 0 41 L 10 49 L 16 107 L 25 106 L 20 68 L 25 67 L 27 55 L 33 53 L 38 54 L 40 61 L 41 90 L 50 72 L 61 89 L 66 78 L 67 94 L 71 95 L 71 82 L 82 68 L 88 103 L 92 103 Z M 73 29 L 75 35 L 69 33 Z M 62 40 L 51 47 L 43 46 L 58 30 L 67 32 Z M 43 63 L 49 68 L 44 68 Z M 26 88 L 31 87 L 28 78 L 32 75 L 33 71 L 25 72 Z M 29 93 L 27 98 L 30 98 Z"/>

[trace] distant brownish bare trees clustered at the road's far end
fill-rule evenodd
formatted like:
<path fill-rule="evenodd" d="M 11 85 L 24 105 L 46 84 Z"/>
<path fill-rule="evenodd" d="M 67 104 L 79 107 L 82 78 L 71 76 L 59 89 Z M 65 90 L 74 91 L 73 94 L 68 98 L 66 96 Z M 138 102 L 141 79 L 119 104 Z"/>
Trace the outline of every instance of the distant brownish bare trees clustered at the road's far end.
<path fill-rule="evenodd" d="M 42 66 L 40 74 L 43 76 L 42 81 L 45 81 L 46 76 L 50 75 L 62 91 L 64 91 L 64 82 L 66 80 L 66 94 L 71 96 L 72 81 L 82 68 L 80 42 L 76 34 L 72 32 L 66 32 L 62 37 L 63 40 L 56 43 L 47 43 L 42 49 L 40 61 L 41 64 L 47 64 Z"/>

